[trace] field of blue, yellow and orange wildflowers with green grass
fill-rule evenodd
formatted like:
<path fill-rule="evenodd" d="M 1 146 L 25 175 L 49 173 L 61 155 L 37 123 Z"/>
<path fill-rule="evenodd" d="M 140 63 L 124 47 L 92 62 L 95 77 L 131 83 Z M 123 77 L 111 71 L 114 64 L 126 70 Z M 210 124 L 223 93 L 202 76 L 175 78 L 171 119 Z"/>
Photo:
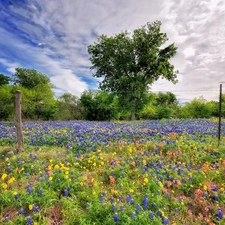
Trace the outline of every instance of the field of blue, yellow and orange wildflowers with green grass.
<path fill-rule="evenodd" d="M 225 124 L 0 123 L 0 224 L 225 224 Z"/>

